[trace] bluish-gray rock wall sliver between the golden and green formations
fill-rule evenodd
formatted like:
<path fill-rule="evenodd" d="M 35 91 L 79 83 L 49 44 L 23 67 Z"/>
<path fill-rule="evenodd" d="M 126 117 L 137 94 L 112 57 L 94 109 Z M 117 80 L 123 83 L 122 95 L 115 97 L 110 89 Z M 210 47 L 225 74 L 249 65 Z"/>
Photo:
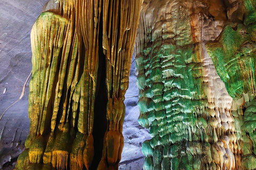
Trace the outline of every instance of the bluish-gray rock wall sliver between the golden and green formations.
<path fill-rule="evenodd" d="M 136 85 L 137 75 L 135 69 L 135 57 L 132 56 L 129 88 L 125 94 L 124 104 L 126 106 L 123 135 L 124 149 L 122 159 L 119 163 L 121 170 L 142 169 L 144 156 L 141 152 L 143 141 L 150 139 L 148 131 L 138 123 L 140 115 L 138 103 L 139 89 Z"/>

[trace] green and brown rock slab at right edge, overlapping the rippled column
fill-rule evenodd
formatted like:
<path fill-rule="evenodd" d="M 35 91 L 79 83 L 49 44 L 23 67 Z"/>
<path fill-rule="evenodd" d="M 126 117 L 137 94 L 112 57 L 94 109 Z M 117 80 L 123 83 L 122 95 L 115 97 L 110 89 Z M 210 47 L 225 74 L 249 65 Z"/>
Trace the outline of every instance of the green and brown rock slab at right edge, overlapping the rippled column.
<path fill-rule="evenodd" d="M 207 52 L 233 101 L 237 167 L 256 168 L 255 150 L 255 31 L 256 2 L 229 4 L 228 23 L 220 36 L 207 44 Z"/>

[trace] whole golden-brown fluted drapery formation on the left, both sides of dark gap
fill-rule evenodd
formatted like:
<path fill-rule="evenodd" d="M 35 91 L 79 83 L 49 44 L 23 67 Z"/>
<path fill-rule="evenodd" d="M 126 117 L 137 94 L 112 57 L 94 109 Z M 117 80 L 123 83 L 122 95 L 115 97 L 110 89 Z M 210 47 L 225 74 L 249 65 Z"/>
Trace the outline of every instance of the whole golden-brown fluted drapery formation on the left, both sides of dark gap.
<path fill-rule="evenodd" d="M 135 0 L 60 0 L 45 6 L 31 31 L 30 132 L 16 169 L 89 169 L 93 162 L 98 169 L 118 169 L 140 10 Z M 106 78 L 105 91 L 99 77 Z M 107 104 L 100 107 L 107 113 L 95 113 L 104 92 Z M 103 151 L 94 153 L 100 134 L 93 124 L 102 119 Z"/>

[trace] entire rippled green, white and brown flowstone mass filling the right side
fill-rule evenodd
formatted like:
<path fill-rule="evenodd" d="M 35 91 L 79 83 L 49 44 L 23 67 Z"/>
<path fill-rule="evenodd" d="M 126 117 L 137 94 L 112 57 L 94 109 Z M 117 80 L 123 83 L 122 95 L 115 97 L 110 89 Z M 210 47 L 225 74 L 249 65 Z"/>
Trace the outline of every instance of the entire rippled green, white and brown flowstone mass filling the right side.
<path fill-rule="evenodd" d="M 255 169 L 255 1 L 142 6 L 139 122 L 152 137 L 143 168 Z"/>

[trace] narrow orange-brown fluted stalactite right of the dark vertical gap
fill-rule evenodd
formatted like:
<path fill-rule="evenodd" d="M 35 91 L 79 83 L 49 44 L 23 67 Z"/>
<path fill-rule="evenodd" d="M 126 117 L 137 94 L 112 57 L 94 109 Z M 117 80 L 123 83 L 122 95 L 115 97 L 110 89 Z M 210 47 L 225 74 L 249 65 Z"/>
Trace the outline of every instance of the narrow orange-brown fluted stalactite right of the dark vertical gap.
<path fill-rule="evenodd" d="M 104 1 L 103 52 L 106 55 L 107 123 L 101 162 L 98 169 L 118 169 L 124 146 L 122 126 L 124 122 L 124 94 L 139 24 L 142 1 Z M 129 15 L 132 14 L 132 15 Z M 134 36 L 132 36 L 134 35 Z M 107 166 L 108 165 L 108 166 Z"/>

